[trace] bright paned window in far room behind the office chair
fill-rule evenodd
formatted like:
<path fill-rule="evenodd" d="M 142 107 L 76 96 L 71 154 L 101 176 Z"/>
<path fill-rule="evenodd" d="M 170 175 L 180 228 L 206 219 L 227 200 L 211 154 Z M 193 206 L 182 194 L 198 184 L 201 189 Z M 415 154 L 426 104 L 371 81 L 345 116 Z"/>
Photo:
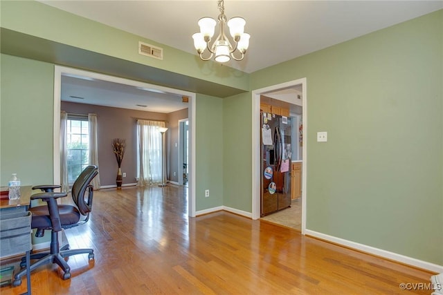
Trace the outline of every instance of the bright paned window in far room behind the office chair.
<path fill-rule="evenodd" d="M 68 116 L 66 127 L 68 182 L 71 185 L 89 164 L 88 117 Z"/>

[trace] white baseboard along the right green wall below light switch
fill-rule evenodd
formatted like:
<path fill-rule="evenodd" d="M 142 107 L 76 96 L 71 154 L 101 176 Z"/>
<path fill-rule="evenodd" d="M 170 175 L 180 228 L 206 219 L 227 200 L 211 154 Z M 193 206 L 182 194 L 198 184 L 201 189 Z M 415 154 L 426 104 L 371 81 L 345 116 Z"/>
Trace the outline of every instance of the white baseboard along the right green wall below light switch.
<path fill-rule="evenodd" d="M 404 263 L 406 265 L 411 265 L 413 267 L 426 269 L 431 272 L 437 272 L 437 273 L 443 272 L 443 265 L 436 265 L 434 263 L 428 263 L 426 261 L 419 260 L 416 258 L 404 256 L 404 255 L 397 254 L 397 253 L 390 252 L 390 251 L 386 251 L 383 249 L 378 249 L 378 248 L 371 247 L 368 245 L 359 244 L 358 242 L 352 242 L 350 240 L 345 240 L 343 238 L 337 238 L 334 236 L 329 236 L 327 234 L 322 234 L 317 231 L 311 231 L 310 229 L 306 229 L 305 234 L 306 234 L 306 236 L 312 236 L 314 238 L 319 238 L 320 240 L 334 242 L 335 244 L 338 244 L 338 245 L 343 245 L 345 247 L 356 249 L 356 250 L 359 250 L 359 251 L 362 251 L 362 252 L 365 252 L 368 254 L 380 256 L 382 258 L 386 258 L 389 260 L 394 260 L 399 263 Z"/>

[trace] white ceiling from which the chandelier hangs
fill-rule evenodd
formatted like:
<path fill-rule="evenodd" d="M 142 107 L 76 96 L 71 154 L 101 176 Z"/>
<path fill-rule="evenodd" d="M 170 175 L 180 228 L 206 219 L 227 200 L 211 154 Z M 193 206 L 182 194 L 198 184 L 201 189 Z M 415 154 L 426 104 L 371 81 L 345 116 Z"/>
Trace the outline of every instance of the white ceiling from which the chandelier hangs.
<path fill-rule="evenodd" d="M 40 2 L 192 54 L 197 54 L 191 37 L 199 30 L 197 21 L 219 14 L 215 0 Z M 224 6 L 228 19 L 246 19 L 251 35 L 245 59 L 227 66 L 253 73 L 442 9 L 443 1 L 226 0 Z M 75 93 L 73 81 L 69 88 Z"/>

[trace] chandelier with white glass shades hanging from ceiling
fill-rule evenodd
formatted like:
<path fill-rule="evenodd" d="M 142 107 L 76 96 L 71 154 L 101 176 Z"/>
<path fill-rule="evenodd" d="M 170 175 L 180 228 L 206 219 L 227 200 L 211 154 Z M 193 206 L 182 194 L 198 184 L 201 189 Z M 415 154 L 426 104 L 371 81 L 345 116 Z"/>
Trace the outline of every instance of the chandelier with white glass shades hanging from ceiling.
<path fill-rule="evenodd" d="M 203 17 L 199 19 L 200 32 L 192 35 L 194 39 L 194 46 L 197 53 L 204 61 L 211 59 L 215 55 L 215 61 L 226 62 L 232 57 L 239 61 L 244 58 L 244 53 L 249 46 L 249 34 L 244 32 L 244 25 L 246 21 L 242 17 L 233 17 L 226 22 L 226 15 L 224 15 L 224 1 L 218 1 L 219 14 L 219 35 L 211 45 L 211 39 L 214 36 L 215 25 L 217 22 L 212 17 Z M 226 24 L 229 28 L 230 36 L 233 39 L 233 45 L 226 37 L 224 32 Z M 204 57 L 205 49 L 208 49 L 210 55 Z M 237 56 L 236 56 L 237 55 Z"/>

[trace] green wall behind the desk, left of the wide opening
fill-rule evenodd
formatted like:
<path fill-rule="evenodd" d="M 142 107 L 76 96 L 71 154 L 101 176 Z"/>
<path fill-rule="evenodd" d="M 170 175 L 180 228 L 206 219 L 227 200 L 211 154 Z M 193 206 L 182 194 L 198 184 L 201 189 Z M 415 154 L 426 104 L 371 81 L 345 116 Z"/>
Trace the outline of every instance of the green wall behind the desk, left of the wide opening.
<path fill-rule="evenodd" d="M 53 182 L 54 67 L 1 55 L 0 183 Z"/>

